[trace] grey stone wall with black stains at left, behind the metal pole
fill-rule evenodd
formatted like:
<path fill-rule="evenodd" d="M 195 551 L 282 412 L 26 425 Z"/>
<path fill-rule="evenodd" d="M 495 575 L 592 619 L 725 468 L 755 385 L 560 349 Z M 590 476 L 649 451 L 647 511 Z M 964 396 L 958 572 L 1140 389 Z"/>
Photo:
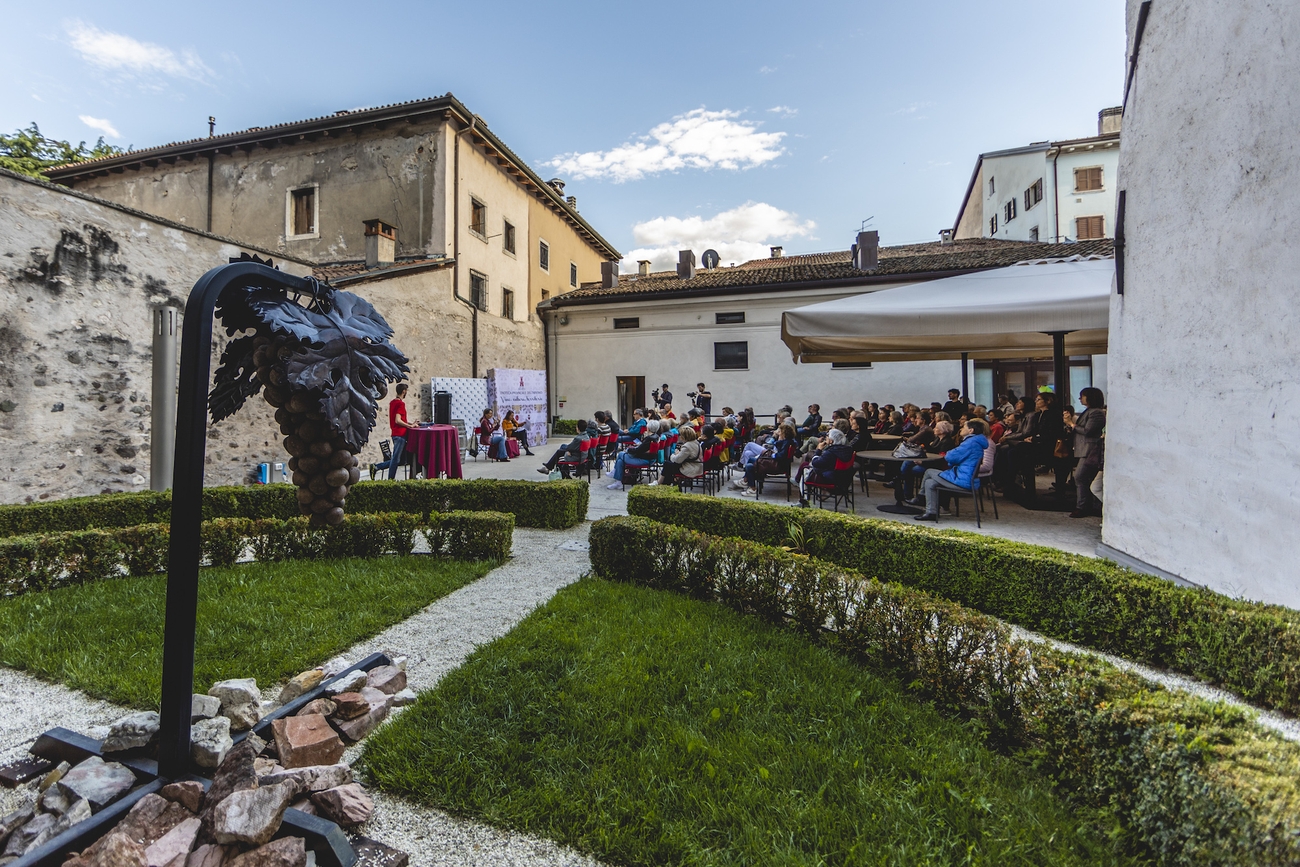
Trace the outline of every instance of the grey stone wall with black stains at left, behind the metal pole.
<path fill-rule="evenodd" d="M 0 502 L 148 487 L 151 309 L 240 250 L 0 173 Z M 286 459 L 276 433 L 260 400 L 213 428 L 208 484 Z"/>

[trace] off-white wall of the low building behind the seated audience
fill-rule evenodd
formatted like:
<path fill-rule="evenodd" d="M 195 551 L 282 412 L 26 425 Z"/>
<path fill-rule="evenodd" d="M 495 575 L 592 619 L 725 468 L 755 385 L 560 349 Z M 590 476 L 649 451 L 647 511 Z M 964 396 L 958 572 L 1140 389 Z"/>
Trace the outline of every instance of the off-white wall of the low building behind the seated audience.
<path fill-rule="evenodd" d="M 894 285 L 880 286 L 892 289 Z M 781 313 L 794 307 L 855 291 L 803 291 L 772 295 L 628 302 L 562 307 L 550 313 L 552 394 L 564 398 L 555 411 L 567 419 L 597 409 L 618 409 L 618 377 L 644 376 L 650 391 L 668 382 L 675 409 L 689 409 L 688 391 L 701 380 L 714 395 L 716 413 L 724 406 L 754 407 L 771 415 L 789 403 L 803 412 L 819 403 L 823 415 L 863 400 L 928 404 L 946 400 L 961 386 L 959 361 L 906 361 L 871 369 L 831 369 L 829 364 L 794 364 L 781 342 Z M 744 325 L 716 325 L 715 313 L 745 312 Z M 567 317 L 567 325 L 558 318 Z M 614 330 L 614 320 L 636 316 L 641 328 Z M 715 370 L 715 341 L 748 341 L 748 370 Z M 802 417 L 802 416 L 801 416 Z"/>

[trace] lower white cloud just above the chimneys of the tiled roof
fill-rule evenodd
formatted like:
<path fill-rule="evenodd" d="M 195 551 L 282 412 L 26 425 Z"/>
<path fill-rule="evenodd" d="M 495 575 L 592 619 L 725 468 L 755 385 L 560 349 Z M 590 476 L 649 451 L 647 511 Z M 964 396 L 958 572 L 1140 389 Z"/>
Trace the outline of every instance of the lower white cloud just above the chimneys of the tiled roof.
<path fill-rule="evenodd" d="M 716 250 L 724 265 L 766 259 L 768 247 L 815 227 L 811 220 L 764 201 L 746 201 L 712 217 L 655 217 L 632 227 L 638 247 L 625 255 L 623 270 L 634 272 L 641 259 L 650 260 L 651 270 L 671 270 L 680 250 L 694 250 L 697 263 L 706 250 Z"/>

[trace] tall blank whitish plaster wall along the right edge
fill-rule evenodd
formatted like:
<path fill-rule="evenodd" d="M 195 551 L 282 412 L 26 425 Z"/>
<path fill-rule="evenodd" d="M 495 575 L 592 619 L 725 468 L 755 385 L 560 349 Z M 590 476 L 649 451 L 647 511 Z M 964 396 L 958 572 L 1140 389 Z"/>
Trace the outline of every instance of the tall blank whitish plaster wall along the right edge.
<path fill-rule="evenodd" d="M 1134 38 L 1138 0 L 1128 3 Z M 1300 607 L 1300 16 L 1152 4 L 1121 156 L 1102 541 Z"/>

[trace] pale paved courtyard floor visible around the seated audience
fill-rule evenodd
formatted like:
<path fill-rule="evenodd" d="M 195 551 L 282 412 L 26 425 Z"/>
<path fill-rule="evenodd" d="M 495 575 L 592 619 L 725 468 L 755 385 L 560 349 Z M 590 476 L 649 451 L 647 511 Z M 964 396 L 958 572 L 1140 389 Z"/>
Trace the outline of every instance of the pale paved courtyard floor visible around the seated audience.
<path fill-rule="evenodd" d="M 537 468 L 541 467 L 542 461 L 564 442 L 568 442 L 568 437 L 563 439 L 551 439 L 549 446 L 537 446 L 533 448 L 533 452 L 537 455 L 536 458 L 523 455 L 508 463 L 488 460 L 481 455 L 477 460 L 467 456 L 464 461 L 464 477 L 524 478 L 528 481 L 538 481 L 542 476 L 537 473 Z M 608 517 L 610 515 L 628 513 L 627 491 L 619 489 L 606 490 L 606 485 L 610 482 L 610 478 L 602 477 L 597 480 L 595 473 L 592 473 L 592 504 L 588 510 L 588 517 L 593 521 L 601 517 Z M 703 497 L 705 494 L 696 491 L 692 495 Z M 725 485 L 719 494 L 714 495 L 740 497 L 740 491 L 731 485 Z M 906 515 L 890 515 L 876 510 L 878 506 L 887 506 L 894 502 L 893 491 L 881 486 L 879 482 L 871 482 L 870 495 L 857 490 L 854 498 L 857 500 L 854 511 L 862 517 L 883 517 L 907 524 L 918 523 Z M 763 495 L 760 502 L 798 507 L 798 494 L 792 494 L 789 503 L 786 503 L 783 486 L 772 485 L 768 486 L 767 493 Z M 841 507 L 841 511 L 844 508 L 846 507 Z M 997 511 L 1000 517 L 994 519 L 993 510 L 985 503 L 985 513 L 982 517 L 983 528 L 976 528 L 974 506 L 970 499 L 965 499 L 961 503 L 959 517 L 942 515 L 940 516 L 941 523 L 939 526 L 941 529 L 958 529 L 968 530 L 971 533 L 983 533 L 985 536 L 996 536 L 1004 539 L 1013 539 L 1015 542 L 1046 545 L 1062 551 L 1070 551 L 1071 554 L 1096 556 L 1097 543 L 1101 542 L 1100 517 L 1074 519 L 1065 512 L 1034 512 L 1002 498 L 1001 495 L 997 498 Z M 926 524 L 926 526 L 935 525 Z"/>

